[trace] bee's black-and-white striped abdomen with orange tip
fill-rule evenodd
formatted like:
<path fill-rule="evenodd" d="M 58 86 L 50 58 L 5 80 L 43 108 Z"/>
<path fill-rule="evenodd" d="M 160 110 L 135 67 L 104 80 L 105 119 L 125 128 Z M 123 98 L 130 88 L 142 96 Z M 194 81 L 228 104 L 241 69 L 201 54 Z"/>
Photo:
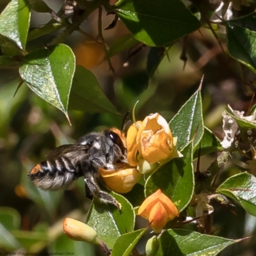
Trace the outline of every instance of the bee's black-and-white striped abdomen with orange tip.
<path fill-rule="evenodd" d="M 35 186 L 44 190 L 58 190 L 77 179 L 76 168 L 67 157 L 47 160 L 36 166 L 28 173 L 29 179 Z"/>

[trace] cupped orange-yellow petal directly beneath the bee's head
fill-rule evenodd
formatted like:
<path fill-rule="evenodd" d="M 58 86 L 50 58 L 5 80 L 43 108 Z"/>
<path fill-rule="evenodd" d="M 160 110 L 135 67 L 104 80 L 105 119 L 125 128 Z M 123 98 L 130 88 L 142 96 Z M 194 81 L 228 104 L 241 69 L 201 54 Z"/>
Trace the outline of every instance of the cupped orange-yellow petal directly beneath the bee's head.
<path fill-rule="evenodd" d="M 127 193 L 140 180 L 141 173 L 136 168 L 104 170 L 100 168 L 100 176 L 108 188 L 117 193 Z"/>

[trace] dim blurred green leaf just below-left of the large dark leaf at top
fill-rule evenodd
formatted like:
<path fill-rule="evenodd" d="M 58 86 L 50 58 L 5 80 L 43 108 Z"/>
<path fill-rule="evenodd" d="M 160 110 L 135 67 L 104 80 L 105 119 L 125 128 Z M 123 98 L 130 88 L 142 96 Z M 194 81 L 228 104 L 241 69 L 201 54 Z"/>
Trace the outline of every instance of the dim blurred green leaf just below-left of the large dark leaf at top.
<path fill-rule="evenodd" d="M 135 45 L 140 44 L 138 40 L 134 38 L 131 34 L 120 36 L 113 44 L 109 46 L 108 56 L 109 58 L 115 56 L 116 54 L 123 52 Z"/>

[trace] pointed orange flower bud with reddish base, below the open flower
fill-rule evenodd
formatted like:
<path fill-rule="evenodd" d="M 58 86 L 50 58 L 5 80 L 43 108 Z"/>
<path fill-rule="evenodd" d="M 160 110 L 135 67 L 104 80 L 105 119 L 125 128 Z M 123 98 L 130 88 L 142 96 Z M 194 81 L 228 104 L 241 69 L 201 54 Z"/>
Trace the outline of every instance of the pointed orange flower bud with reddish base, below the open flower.
<path fill-rule="evenodd" d="M 141 204 L 138 215 L 147 219 L 153 230 L 159 232 L 167 221 L 179 216 L 179 211 L 172 200 L 158 189 Z"/>

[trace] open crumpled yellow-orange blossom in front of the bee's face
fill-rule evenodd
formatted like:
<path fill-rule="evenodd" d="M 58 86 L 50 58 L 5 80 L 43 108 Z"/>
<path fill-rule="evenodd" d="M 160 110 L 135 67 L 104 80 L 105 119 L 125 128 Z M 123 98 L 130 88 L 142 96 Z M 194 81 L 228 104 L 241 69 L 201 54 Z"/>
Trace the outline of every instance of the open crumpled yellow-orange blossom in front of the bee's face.
<path fill-rule="evenodd" d="M 155 113 L 147 116 L 143 122 L 131 125 L 127 132 L 127 159 L 132 166 L 141 159 L 148 163 L 166 161 L 181 157 L 170 127 L 163 116 Z"/>

